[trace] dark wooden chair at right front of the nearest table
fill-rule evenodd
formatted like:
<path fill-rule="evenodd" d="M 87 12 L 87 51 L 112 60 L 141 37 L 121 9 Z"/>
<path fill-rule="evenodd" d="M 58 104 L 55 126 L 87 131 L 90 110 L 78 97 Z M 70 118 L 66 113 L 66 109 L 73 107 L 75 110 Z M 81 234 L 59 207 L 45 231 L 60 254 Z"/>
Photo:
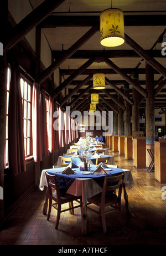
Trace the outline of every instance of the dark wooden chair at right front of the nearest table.
<path fill-rule="evenodd" d="M 88 203 L 86 205 L 86 208 L 101 216 L 104 233 L 107 232 L 105 214 L 115 209 L 118 209 L 118 214 L 121 221 L 121 194 L 122 194 L 122 187 L 123 187 L 123 177 L 124 177 L 123 173 L 122 175 L 118 175 L 114 177 L 113 176 L 105 177 L 102 192 L 87 199 Z M 115 182 L 114 184 L 117 184 L 117 185 L 112 185 L 112 182 Z M 110 192 L 110 191 L 116 191 L 116 190 L 118 190 L 118 195 L 116 195 L 115 193 L 112 193 L 111 196 L 108 196 L 108 194 L 106 193 L 107 191 Z M 100 211 L 96 211 L 95 209 L 90 208 L 88 206 L 89 204 L 95 204 L 100 208 Z M 111 209 L 110 208 L 106 209 L 107 206 L 111 207 Z"/>

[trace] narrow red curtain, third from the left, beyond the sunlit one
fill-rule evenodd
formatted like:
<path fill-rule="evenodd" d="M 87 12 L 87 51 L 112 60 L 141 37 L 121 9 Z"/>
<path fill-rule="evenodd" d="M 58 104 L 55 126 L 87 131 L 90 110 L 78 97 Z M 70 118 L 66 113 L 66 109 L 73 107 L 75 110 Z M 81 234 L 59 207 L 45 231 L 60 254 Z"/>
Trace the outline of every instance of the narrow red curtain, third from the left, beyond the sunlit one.
<path fill-rule="evenodd" d="M 42 156 L 48 156 L 48 136 L 46 127 L 46 103 L 44 90 L 41 90 L 40 94 L 40 129 L 42 141 Z"/>

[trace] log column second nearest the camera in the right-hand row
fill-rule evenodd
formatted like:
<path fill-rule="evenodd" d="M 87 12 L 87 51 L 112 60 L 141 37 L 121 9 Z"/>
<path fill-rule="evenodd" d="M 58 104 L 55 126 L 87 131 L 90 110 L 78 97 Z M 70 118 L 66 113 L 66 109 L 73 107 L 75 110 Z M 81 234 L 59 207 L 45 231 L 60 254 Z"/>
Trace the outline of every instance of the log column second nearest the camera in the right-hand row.
<path fill-rule="evenodd" d="M 133 80 L 138 83 L 138 72 L 134 71 L 132 74 Z M 133 107 L 132 107 L 132 131 L 139 131 L 139 92 L 133 88 Z"/>

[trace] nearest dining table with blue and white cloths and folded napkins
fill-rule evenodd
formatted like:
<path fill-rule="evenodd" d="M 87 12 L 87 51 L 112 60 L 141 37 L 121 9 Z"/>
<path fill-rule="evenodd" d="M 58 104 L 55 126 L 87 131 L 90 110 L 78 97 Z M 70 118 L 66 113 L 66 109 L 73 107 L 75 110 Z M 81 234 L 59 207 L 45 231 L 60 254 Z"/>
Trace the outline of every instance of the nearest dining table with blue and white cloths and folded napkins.
<path fill-rule="evenodd" d="M 128 209 L 128 195 L 126 192 L 126 184 L 128 185 L 128 190 L 132 188 L 133 177 L 130 170 L 122 169 L 122 168 L 112 168 L 109 165 L 105 165 L 106 174 L 95 174 L 95 170 L 98 166 L 91 165 L 91 169 L 88 172 L 80 171 L 79 166 L 74 163 L 70 163 L 71 170 L 74 171 L 73 174 L 64 174 L 62 173 L 65 167 L 57 167 L 43 170 L 40 176 L 39 188 L 40 190 L 44 190 L 44 187 L 47 187 L 45 172 L 48 172 L 50 175 L 55 175 L 56 180 L 58 181 L 58 185 L 60 188 L 61 195 L 65 195 L 65 193 L 72 194 L 74 196 L 82 196 L 82 207 L 81 207 L 81 233 L 82 235 L 86 234 L 87 223 L 86 223 L 86 204 L 88 198 L 95 196 L 102 192 L 102 185 L 105 176 L 116 176 L 121 173 L 124 174 L 124 182 L 123 182 L 123 196 L 125 199 L 126 212 L 129 214 Z M 45 215 L 48 208 L 48 190 L 45 194 L 45 202 L 43 206 L 43 214 Z"/>

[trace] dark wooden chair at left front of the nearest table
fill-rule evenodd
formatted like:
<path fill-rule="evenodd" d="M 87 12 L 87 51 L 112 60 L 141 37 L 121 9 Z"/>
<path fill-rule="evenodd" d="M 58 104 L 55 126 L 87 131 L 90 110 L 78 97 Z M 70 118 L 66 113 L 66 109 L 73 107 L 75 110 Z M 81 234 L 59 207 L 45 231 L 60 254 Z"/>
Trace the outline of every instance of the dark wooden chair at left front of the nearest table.
<path fill-rule="evenodd" d="M 71 211 L 71 214 L 74 214 L 74 209 L 82 206 L 81 197 L 72 196 L 72 194 L 65 194 L 64 197 L 61 197 L 60 190 L 58 186 L 58 182 L 56 181 L 55 175 L 49 175 L 47 172 L 46 181 L 48 183 L 48 192 L 49 192 L 49 210 L 48 210 L 48 217 L 47 220 L 49 221 L 51 207 L 53 206 L 58 212 L 56 215 L 56 224 L 55 229 L 58 229 L 59 220 L 60 220 L 60 213 Z M 54 192 L 53 192 L 54 191 Z M 53 204 L 53 201 L 55 204 Z M 79 203 L 79 205 L 74 206 L 73 201 Z M 69 203 L 69 208 L 61 209 L 61 205 L 64 203 Z"/>

